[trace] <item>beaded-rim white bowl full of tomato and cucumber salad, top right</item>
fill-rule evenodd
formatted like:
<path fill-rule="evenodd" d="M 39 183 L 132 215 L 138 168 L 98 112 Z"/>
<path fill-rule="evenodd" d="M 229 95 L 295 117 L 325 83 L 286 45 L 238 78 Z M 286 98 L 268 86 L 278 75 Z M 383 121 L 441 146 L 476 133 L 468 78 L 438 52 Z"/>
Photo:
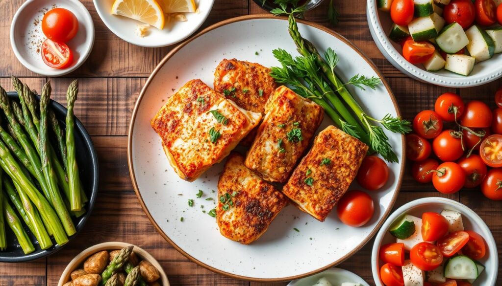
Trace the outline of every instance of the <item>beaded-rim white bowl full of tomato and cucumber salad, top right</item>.
<path fill-rule="evenodd" d="M 371 36 L 411 78 L 472 87 L 502 77 L 502 1 L 367 0 Z"/>

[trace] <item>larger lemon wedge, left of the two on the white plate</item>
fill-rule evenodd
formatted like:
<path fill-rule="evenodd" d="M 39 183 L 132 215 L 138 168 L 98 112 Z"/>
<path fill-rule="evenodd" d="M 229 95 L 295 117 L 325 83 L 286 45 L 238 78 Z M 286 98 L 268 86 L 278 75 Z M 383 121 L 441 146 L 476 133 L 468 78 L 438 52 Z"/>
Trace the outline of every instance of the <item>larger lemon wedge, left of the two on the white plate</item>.
<path fill-rule="evenodd" d="M 164 28 L 164 12 L 155 0 L 115 0 L 111 14 L 138 20 L 160 30 Z"/>

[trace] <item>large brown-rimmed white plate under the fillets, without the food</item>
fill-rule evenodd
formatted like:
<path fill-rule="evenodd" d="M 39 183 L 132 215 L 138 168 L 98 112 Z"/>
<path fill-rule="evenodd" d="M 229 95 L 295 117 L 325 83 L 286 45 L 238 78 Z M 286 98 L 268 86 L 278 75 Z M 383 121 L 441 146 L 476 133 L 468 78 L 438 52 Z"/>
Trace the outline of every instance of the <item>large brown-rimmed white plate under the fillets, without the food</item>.
<path fill-rule="evenodd" d="M 322 26 L 308 25 L 312 26 L 299 25 L 305 38 L 320 51 L 332 47 L 339 52 L 337 70 L 345 80 L 357 73 L 368 77 L 381 76 L 346 39 Z M 381 191 L 369 193 L 375 200 L 375 215 L 364 227 L 342 224 L 336 211 L 331 212 L 325 222 L 319 222 L 290 205 L 251 245 L 241 245 L 221 236 L 215 219 L 202 213 L 200 207 L 204 205 L 206 211 L 214 207 L 212 201 L 204 199 L 216 198 L 216 193 L 211 190 L 216 190 L 223 162 L 210 168 L 195 182 L 181 180 L 169 165 L 150 120 L 165 100 L 187 81 L 200 78 L 213 86 L 214 70 L 223 58 L 272 67 L 278 65 L 272 50 L 279 47 L 296 55 L 285 19 L 268 15 L 245 16 L 207 28 L 171 51 L 155 69 L 138 99 L 129 131 L 128 152 L 133 184 L 146 213 L 160 233 L 197 263 L 242 279 L 292 280 L 348 258 L 370 239 L 389 213 L 398 194 L 404 166 L 404 137 L 387 132 L 400 163 L 389 165 L 390 179 Z M 373 117 L 398 113 L 386 83 L 376 91 L 357 91 L 356 94 Z M 325 116 L 320 128 L 328 124 L 332 122 Z M 199 189 L 204 191 L 201 199 L 195 197 Z M 178 195 L 180 193 L 183 195 Z M 188 199 L 194 199 L 194 207 L 188 207 Z"/>

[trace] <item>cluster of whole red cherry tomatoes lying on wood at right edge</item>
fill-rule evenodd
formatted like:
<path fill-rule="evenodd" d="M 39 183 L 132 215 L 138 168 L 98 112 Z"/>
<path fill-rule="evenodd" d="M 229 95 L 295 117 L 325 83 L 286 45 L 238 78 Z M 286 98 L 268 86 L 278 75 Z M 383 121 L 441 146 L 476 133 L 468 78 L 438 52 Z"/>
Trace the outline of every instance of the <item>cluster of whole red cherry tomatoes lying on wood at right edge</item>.
<path fill-rule="evenodd" d="M 434 110 L 419 112 L 415 133 L 406 136 L 413 178 L 446 194 L 481 186 L 486 197 L 502 200 L 502 88 L 495 103 L 491 110 L 482 101 L 464 103 L 457 94 L 444 93 Z"/>

